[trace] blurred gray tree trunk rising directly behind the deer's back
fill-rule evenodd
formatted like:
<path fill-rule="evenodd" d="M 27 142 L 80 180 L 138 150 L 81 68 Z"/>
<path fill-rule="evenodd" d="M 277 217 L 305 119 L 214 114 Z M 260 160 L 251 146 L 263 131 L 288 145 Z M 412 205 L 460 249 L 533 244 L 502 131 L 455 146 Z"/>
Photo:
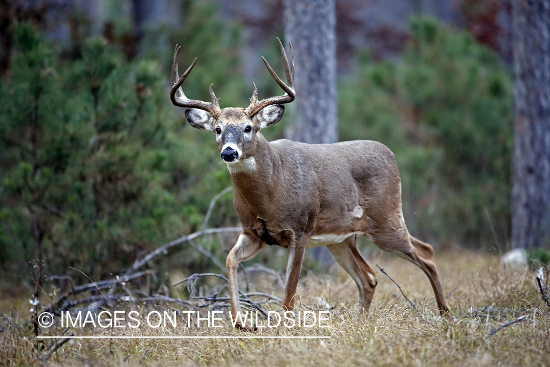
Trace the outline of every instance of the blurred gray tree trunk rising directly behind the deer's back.
<path fill-rule="evenodd" d="M 284 32 L 294 47 L 297 117 L 290 140 L 338 141 L 334 0 L 285 0 Z"/>

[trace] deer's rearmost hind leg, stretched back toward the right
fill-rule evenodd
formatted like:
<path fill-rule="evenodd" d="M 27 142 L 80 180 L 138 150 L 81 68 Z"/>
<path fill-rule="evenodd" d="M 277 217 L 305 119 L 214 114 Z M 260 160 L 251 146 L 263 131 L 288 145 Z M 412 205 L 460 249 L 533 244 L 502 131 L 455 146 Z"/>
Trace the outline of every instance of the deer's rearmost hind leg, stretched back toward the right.
<path fill-rule="evenodd" d="M 433 248 L 430 244 L 412 237 L 405 227 L 402 216 L 398 223 L 379 226 L 376 231 L 367 233 L 367 237 L 381 250 L 398 255 L 420 267 L 426 273 L 436 296 L 437 306 L 442 316 L 452 320 L 449 304 L 443 295 L 443 287 L 439 280 Z M 391 229 L 384 229 L 391 228 Z"/>

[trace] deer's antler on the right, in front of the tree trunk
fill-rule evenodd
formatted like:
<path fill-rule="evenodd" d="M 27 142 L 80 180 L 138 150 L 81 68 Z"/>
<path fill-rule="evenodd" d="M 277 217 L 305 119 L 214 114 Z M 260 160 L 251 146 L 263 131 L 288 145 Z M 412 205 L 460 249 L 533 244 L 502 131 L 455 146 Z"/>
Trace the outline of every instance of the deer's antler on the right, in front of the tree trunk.
<path fill-rule="evenodd" d="M 286 94 L 277 97 L 266 98 L 265 100 L 257 101 L 258 91 L 256 90 L 256 85 L 254 85 L 254 92 L 252 98 L 250 98 L 250 105 L 245 109 L 245 113 L 248 116 L 254 116 L 256 113 L 260 112 L 261 109 L 269 106 L 276 105 L 279 103 L 290 103 L 294 101 L 296 97 L 296 92 L 294 91 L 294 51 L 292 49 L 292 44 L 290 42 L 290 65 L 288 63 L 287 53 L 284 51 L 283 43 L 277 37 L 279 42 L 279 48 L 281 48 L 281 56 L 283 57 L 283 67 L 284 74 L 287 78 L 287 84 L 284 84 L 281 78 L 273 71 L 270 64 L 262 57 L 263 63 L 266 64 L 267 70 L 270 72 L 273 79 L 277 84 L 286 92 Z"/>

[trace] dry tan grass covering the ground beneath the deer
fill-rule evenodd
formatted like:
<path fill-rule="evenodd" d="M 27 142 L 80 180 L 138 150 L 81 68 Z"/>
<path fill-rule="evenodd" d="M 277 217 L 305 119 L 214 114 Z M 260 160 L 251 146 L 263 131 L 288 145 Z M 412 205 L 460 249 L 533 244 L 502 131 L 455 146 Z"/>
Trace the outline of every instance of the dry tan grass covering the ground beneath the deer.
<path fill-rule="evenodd" d="M 79 339 L 59 348 L 48 361 L 63 366 L 175 366 L 175 365 L 254 365 L 260 366 L 548 366 L 550 365 L 550 314 L 544 305 L 531 272 L 505 272 L 498 259 L 476 253 L 449 252 L 437 258 L 444 278 L 445 292 L 458 316 L 472 310 L 488 310 L 489 317 L 458 317 L 454 328 L 439 320 L 428 280 L 414 265 L 390 255 L 372 251 L 370 264 L 380 265 L 397 281 L 421 313 L 404 302 L 397 287 L 377 271 L 379 285 L 370 313 L 356 308 L 354 282 L 341 269 L 329 275 L 303 274 L 299 283 L 298 305 L 327 302 L 333 306 L 327 328 L 279 327 L 259 332 L 223 328 L 186 328 L 155 331 L 118 329 L 115 335 L 162 336 L 242 336 L 242 335 L 329 335 L 329 339 Z M 263 278 L 265 280 L 265 277 Z M 269 283 L 265 281 L 264 283 Z M 242 284 L 242 283 L 241 283 Z M 259 290 L 277 292 L 266 284 Z M 279 294 L 280 295 L 280 294 Z M 26 300 L 25 300 L 26 302 Z M 37 365 L 36 339 L 28 303 L 4 300 L 5 313 L 19 312 L 0 332 L 0 365 Z M 277 305 L 273 305 L 277 308 Z M 18 310 L 17 310 L 18 309 Z M 504 327 L 482 342 L 489 331 L 518 316 L 525 321 Z M 119 331 L 123 330 L 123 331 Z M 58 335 L 61 328 L 43 330 Z M 79 335 L 83 332 L 74 331 Z M 87 330 L 94 333 L 94 330 Z M 94 335 L 113 335 L 112 330 L 96 330 Z M 127 334 L 124 334 L 127 333 Z M 157 334 L 155 334 L 157 333 Z"/>

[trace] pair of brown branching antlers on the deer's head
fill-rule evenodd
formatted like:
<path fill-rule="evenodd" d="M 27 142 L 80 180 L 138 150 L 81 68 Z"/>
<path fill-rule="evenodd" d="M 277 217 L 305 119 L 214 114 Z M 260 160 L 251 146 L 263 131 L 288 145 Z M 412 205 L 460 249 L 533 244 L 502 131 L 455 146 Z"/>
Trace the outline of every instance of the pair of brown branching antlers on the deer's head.
<path fill-rule="evenodd" d="M 250 98 L 250 105 L 244 110 L 244 112 L 250 117 L 254 116 L 256 113 L 260 112 L 263 108 L 269 105 L 290 103 L 294 101 L 294 98 L 296 97 L 296 92 L 294 91 L 294 51 L 292 50 L 292 44 L 288 42 L 290 46 L 289 65 L 287 53 L 284 51 L 283 43 L 281 43 L 281 40 L 279 40 L 278 37 L 277 41 L 279 42 L 279 47 L 281 48 L 284 73 L 287 77 L 287 84 L 284 84 L 281 78 L 277 76 L 277 74 L 273 71 L 273 69 L 270 67 L 270 64 L 267 63 L 265 58 L 262 57 L 262 60 L 266 64 L 267 70 L 270 72 L 273 79 L 275 79 L 277 84 L 281 86 L 281 88 L 285 91 L 285 94 L 282 96 L 270 97 L 266 98 L 265 100 L 258 101 L 258 90 L 256 89 L 256 84 L 252 83 L 254 84 L 254 91 L 252 92 L 252 97 Z M 197 59 L 195 58 L 195 60 L 193 61 L 191 66 L 185 71 L 185 73 L 183 73 L 182 76 L 179 76 L 178 55 L 180 48 L 181 46 L 175 46 L 174 62 L 172 63 L 172 75 L 170 78 L 170 84 L 172 85 L 172 88 L 170 90 L 170 99 L 172 100 L 172 103 L 174 103 L 174 106 L 178 107 L 202 109 L 210 113 L 213 117 L 217 118 L 219 116 L 219 113 L 221 112 L 221 109 L 219 108 L 218 98 L 216 98 L 216 95 L 212 90 L 213 84 L 210 86 L 210 97 L 212 98 L 212 101 L 210 103 L 199 100 L 190 100 L 185 96 L 182 89 L 182 84 L 185 81 L 185 78 L 187 78 L 187 76 L 195 66 L 195 62 L 197 61 Z"/>

